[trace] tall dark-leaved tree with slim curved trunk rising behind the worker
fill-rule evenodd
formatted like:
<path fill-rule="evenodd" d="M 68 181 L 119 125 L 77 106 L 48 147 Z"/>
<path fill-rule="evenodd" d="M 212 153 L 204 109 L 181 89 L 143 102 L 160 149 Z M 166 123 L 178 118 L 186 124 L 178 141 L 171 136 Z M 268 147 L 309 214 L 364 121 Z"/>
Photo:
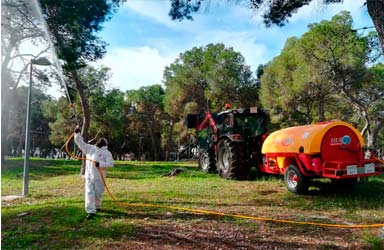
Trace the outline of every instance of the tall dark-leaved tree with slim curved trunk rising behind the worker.
<path fill-rule="evenodd" d="M 84 93 L 84 83 L 78 70 L 88 62 L 100 59 L 105 54 L 106 43 L 97 36 L 102 24 L 108 21 L 122 0 L 56 1 L 42 0 L 41 7 L 48 31 L 69 84 L 77 90 L 83 114 L 82 135 L 88 138 L 90 126 L 89 102 Z"/>

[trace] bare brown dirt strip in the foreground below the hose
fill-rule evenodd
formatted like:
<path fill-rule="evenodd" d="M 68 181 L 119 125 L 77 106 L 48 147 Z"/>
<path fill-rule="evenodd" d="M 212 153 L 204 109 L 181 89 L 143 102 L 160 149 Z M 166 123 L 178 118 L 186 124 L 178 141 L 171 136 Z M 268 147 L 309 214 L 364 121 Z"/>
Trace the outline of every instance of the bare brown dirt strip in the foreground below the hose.
<path fill-rule="evenodd" d="M 252 222 L 254 223 L 254 222 Z M 360 231 L 361 232 L 361 231 Z M 236 224 L 205 220 L 201 223 L 146 224 L 134 237 L 111 242 L 103 249 L 369 249 L 356 239 L 356 230 L 287 227 L 259 222 Z"/>

